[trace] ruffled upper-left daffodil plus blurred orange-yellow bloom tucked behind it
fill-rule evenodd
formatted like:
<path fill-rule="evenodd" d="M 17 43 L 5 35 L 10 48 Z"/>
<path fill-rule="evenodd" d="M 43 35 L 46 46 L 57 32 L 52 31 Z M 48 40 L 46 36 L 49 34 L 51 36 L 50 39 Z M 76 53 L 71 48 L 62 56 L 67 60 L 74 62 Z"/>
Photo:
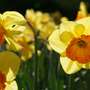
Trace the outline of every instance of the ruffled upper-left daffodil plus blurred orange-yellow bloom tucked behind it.
<path fill-rule="evenodd" d="M 0 14 L 1 46 L 6 43 L 6 49 L 20 52 L 22 60 L 26 60 L 32 56 L 33 41 L 33 31 L 23 15 L 16 11 Z M 32 43 L 28 44 L 29 42 Z"/>

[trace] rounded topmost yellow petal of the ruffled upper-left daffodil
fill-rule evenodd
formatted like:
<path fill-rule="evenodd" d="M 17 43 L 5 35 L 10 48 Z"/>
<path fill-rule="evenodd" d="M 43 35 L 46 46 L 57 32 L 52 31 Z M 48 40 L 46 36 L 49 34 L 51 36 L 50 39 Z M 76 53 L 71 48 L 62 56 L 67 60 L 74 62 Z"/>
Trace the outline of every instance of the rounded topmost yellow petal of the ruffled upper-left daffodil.
<path fill-rule="evenodd" d="M 26 20 L 24 19 L 23 15 L 21 15 L 20 13 L 16 12 L 16 11 L 7 11 L 5 13 L 3 13 L 3 26 L 5 28 L 8 27 L 8 25 L 23 25 L 26 23 Z M 13 27 L 12 25 L 12 27 Z"/>

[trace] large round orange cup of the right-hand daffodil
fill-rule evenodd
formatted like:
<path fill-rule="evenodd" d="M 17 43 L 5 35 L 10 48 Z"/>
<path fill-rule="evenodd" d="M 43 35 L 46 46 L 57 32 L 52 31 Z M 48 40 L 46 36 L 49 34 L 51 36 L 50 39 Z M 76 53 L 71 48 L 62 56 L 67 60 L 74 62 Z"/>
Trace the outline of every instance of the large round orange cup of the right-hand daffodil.
<path fill-rule="evenodd" d="M 90 62 L 90 35 L 82 35 L 80 38 L 72 39 L 66 49 L 66 55 L 79 63 Z"/>

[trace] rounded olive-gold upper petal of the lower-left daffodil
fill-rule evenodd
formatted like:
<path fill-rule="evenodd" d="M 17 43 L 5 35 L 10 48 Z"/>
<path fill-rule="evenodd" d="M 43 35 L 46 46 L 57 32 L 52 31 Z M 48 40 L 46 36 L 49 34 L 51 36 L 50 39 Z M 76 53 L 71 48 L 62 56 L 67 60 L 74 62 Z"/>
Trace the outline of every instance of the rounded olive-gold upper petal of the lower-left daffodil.
<path fill-rule="evenodd" d="M 18 73 L 19 66 L 20 58 L 16 54 L 10 51 L 0 52 L 0 71 L 5 73 L 6 76 L 10 75 L 8 77 L 10 80 Z"/>

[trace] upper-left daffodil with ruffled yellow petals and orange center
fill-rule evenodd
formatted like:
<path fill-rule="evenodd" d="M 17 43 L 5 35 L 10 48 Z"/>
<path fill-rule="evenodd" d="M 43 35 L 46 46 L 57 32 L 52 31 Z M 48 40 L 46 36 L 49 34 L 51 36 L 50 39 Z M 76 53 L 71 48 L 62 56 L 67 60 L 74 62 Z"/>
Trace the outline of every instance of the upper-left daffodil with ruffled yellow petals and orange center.
<path fill-rule="evenodd" d="M 0 14 L 0 44 L 6 40 L 15 50 L 21 46 L 15 42 L 16 36 L 24 35 L 29 29 L 25 18 L 16 11 L 7 11 Z"/>

